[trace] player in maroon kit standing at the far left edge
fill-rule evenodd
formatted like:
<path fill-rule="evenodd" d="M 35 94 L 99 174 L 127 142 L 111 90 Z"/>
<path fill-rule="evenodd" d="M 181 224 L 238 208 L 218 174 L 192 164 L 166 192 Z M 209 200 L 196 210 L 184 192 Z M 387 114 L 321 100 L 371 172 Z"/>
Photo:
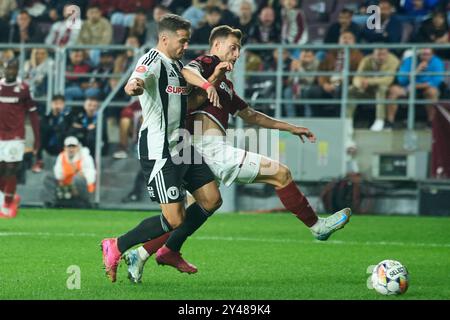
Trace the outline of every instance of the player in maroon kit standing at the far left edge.
<path fill-rule="evenodd" d="M 28 114 L 34 134 L 33 152 L 39 149 L 39 116 L 28 86 L 17 78 L 19 63 L 6 63 L 0 79 L 0 218 L 17 215 L 20 197 L 16 194 L 16 174 L 25 150 L 25 116 Z M 0 199 L 1 200 L 1 199 Z"/>

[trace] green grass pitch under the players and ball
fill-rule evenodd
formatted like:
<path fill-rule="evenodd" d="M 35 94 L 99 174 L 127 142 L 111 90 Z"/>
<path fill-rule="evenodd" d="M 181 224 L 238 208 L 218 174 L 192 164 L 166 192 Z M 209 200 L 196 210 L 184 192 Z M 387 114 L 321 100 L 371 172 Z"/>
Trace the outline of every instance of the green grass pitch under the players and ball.
<path fill-rule="evenodd" d="M 0 220 L 3 299 L 449 299 L 450 219 L 354 215 L 327 242 L 290 214 L 216 214 L 183 248 L 196 275 L 156 265 L 133 285 L 126 265 L 110 283 L 99 243 L 138 224 L 145 212 L 21 209 Z M 410 272 L 403 296 L 366 286 L 366 269 L 396 259 Z M 67 269 L 81 270 L 69 290 Z"/>

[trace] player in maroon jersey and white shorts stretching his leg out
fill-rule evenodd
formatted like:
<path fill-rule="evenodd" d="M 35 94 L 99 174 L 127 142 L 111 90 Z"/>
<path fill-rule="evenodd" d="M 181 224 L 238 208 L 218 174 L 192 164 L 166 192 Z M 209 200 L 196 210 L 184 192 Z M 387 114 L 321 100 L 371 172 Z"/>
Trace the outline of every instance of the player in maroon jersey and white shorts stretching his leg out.
<path fill-rule="evenodd" d="M 210 83 L 216 86 L 222 108 L 214 106 L 205 97 L 190 96 L 190 103 L 200 105 L 192 111 L 187 119 L 189 123 L 199 121 L 203 133 L 193 136 L 195 148 L 202 154 L 216 177 L 225 185 L 238 183 L 267 183 L 275 188 L 285 208 L 297 216 L 310 228 L 318 240 L 327 240 L 338 229 L 349 221 L 351 210 L 345 208 L 327 218 L 319 218 L 308 203 L 304 194 L 298 189 L 292 179 L 288 167 L 276 160 L 263 155 L 235 148 L 226 143 L 225 135 L 229 115 L 241 117 L 250 125 L 263 128 L 278 129 L 298 136 L 302 141 L 308 139 L 315 142 L 315 135 L 305 127 L 295 126 L 285 121 L 277 120 L 252 109 L 234 91 L 233 83 L 227 79 L 226 72 L 232 70 L 240 55 L 242 33 L 239 29 L 229 26 L 218 26 L 211 31 L 210 54 L 203 55 L 185 69 L 192 73 L 201 73 Z M 192 128 L 191 132 L 192 132 Z M 274 170 L 268 170 L 273 168 Z M 200 225 L 197 225 L 198 229 Z M 139 282 L 142 277 L 143 265 L 148 257 L 156 252 L 156 261 L 160 253 L 169 246 L 179 251 L 181 244 L 192 234 L 190 230 L 180 228 L 170 234 L 144 244 L 137 250 L 130 250 L 124 256 L 128 264 L 128 277 L 133 282 Z M 176 240 L 174 245 L 173 239 Z"/>

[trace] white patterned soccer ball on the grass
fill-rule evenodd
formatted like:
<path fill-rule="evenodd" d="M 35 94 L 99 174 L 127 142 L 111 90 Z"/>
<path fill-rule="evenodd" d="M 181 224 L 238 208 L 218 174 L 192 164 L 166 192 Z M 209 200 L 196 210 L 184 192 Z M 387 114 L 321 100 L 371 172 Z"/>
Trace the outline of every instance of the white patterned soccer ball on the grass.
<path fill-rule="evenodd" d="M 372 271 L 372 287 L 382 295 L 398 295 L 408 290 L 408 270 L 395 260 L 383 260 Z"/>

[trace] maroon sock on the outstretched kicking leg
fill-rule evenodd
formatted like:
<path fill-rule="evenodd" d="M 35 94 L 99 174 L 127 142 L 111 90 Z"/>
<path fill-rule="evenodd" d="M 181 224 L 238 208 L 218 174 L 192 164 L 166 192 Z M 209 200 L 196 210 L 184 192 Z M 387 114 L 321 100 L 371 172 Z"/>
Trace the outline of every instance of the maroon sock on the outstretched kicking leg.
<path fill-rule="evenodd" d="M 317 222 L 316 213 L 294 181 L 275 191 L 286 209 L 295 214 L 305 225 L 312 227 Z"/>

